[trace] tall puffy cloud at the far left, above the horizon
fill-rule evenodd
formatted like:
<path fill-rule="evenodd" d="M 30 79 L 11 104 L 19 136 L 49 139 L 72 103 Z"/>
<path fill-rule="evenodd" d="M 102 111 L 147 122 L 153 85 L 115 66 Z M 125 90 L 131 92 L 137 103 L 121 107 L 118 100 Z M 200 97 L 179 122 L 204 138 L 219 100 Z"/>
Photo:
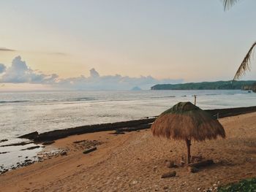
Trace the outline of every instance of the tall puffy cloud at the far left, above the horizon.
<path fill-rule="evenodd" d="M 21 57 L 17 56 L 12 60 L 12 66 L 6 69 L 2 75 L 0 82 L 12 83 L 54 83 L 58 75 L 37 73 L 26 65 L 25 61 L 21 61 Z"/>

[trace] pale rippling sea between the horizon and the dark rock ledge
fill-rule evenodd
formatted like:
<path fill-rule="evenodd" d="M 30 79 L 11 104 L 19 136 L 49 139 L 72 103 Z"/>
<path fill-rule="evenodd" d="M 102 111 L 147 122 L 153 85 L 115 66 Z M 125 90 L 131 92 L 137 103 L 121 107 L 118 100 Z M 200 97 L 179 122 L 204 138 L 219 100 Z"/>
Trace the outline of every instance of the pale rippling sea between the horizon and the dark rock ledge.
<path fill-rule="evenodd" d="M 1 147 L 26 141 L 20 135 L 152 117 L 179 101 L 193 103 L 194 95 L 203 110 L 256 105 L 256 93 L 239 90 L 1 92 L 0 141 L 8 141 L 0 142 L 0 172 L 27 158 L 37 161 L 41 147 L 24 150 L 34 144 Z"/>

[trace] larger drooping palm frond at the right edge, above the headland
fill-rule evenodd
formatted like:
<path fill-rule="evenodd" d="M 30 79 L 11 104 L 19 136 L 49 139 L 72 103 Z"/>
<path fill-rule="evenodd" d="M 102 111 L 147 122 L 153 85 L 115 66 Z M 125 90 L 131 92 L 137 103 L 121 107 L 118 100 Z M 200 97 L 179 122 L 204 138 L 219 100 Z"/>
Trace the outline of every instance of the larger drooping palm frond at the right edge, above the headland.
<path fill-rule="evenodd" d="M 251 58 L 252 58 L 252 53 L 253 53 L 255 46 L 256 46 L 256 42 L 254 42 L 254 44 L 252 44 L 252 47 L 250 47 L 248 53 L 244 57 L 244 60 L 242 61 L 241 65 L 239 66 L 233 80 L 238 80 L 247 71 L 250 71 Z"/>

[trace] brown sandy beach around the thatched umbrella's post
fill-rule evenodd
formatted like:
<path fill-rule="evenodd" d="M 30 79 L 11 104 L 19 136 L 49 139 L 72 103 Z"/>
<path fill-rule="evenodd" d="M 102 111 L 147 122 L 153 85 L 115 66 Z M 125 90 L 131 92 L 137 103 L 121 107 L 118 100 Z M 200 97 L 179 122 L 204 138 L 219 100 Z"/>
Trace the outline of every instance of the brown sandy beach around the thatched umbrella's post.
<path fill-rule="evenodd" d="M 192 155 L 216 163 L 189 173 L 184 167 L 167 168 L 165 160 L 180 161 L 184 142 L 154 138 L 150 130 L 113 135 L 113 131 L 59 139 L 56 147 L 67 155 L 32 164 L 0 176 L 0 191 L 203 191 L 256 177 L 256 112 L 220 120 L 227 138 L 192 142 Z M 103 142 L 83 154 L 77 140 Z M 176 170 L 176 177 L 161 174 Z M 200 188 L 200 190 L 198 190 Z"/>

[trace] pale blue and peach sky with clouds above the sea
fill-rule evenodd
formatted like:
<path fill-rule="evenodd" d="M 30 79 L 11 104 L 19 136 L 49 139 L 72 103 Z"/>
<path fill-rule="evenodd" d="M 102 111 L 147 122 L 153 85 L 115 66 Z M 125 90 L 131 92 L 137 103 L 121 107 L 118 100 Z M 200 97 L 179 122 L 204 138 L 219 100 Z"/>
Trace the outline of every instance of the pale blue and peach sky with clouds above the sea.
<path fill-rule="evenodd" d="M 256 1 L 0 1 L 0 91 L 232 80 Z M 241 80 L 256 80 L 252 71 Z"/>

